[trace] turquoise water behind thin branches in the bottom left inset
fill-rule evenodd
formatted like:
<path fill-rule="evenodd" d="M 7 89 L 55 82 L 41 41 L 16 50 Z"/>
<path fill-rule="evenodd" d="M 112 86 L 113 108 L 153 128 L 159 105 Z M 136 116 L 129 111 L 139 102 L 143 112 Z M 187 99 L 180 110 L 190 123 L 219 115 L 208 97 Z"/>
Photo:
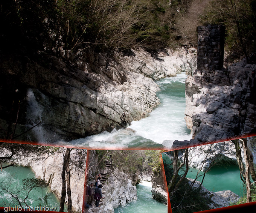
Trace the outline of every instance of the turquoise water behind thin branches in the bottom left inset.
<path fill-rule="evenodd" d="M 8 165 L 7 163 L 2 162 L 2 166 Z M 11 196 L 10 193 L 18 195 L 19 200 L 23 200 L 26 197 L 26 189 L 23 189 L 22 180 L 25 178 L 35 178 L 35 174 L 28 167 L 23 166 L 10 166 L 8 168 L 0 171 L 0 206 L 1 207 L 14 207 L 15 205 L 19 207 L 18 201 Z M 2 190 L 5 189 L 5 190 Z M 47 194 L 47 204 L 44 205 L 43 197 Z M 27 205 L 30 207 L 49 207 L 50 211 L 59 209 L 59 200 L 58 198 L 51 192 L 48 187 L 37 187 L 32 189 L 29 192 L 29 196 L 26 199 Z M 54 206 L 54 207 L 53 207 Z M 25 205 L 23 204 L 23 207 Z M 53 209 L 51 209 L 53 207 Z M 65 211 L 67 208 L 65 207 Z"/>

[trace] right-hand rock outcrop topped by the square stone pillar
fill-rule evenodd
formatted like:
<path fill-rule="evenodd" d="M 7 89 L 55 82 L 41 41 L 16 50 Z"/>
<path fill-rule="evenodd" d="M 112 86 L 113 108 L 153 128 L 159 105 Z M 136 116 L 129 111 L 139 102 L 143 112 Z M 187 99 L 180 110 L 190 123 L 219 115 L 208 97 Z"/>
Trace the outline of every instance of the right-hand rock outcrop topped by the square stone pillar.
<path fill-rule="evenodd" d="M 198 27 L 197 69 L 186 79 L 187 127 L 192 140 L 173 148 L 252 136 L 255 126 L 255 60 L 242 59 L 223 68 L 223 26 Z"/>

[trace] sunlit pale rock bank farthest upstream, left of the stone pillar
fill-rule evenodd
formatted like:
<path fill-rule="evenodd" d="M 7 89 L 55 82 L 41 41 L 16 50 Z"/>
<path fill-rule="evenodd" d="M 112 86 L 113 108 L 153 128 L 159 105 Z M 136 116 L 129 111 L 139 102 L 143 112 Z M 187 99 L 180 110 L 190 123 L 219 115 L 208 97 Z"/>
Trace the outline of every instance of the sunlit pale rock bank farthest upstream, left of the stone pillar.
<path fill-rule="evenodd" d="M 127 70 L 158 80 L 159 78 L 174 77 L 181 72 L 192 73 L 195 71 L 196 52 L 194 48 L 178 48 L 176 51 L 165 49 L 152 57 L 149 52 L 139 48 L 133 49 L 130 55 L 119 55 L 119 61 Z"/>

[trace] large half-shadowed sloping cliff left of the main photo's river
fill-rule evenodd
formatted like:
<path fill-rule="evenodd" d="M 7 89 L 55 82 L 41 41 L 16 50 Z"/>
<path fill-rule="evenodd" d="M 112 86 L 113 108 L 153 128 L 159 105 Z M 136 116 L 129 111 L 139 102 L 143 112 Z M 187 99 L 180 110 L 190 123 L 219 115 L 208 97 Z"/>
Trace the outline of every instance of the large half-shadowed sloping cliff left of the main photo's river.
<path fill-rule="evenodd" d="M 44 52 L 39 55 L 40 62 L 22 57 L 3 60 L 1 76 L 12 88 L 6 90 L 4 83 L 0 89 L 2 96 L 8 93 L 11 97 L 16 89 L 20 91 L 16 94 L 22 106 L 20 124 L 41 121 L 47 132 L 44 141 L 56 141 L 56 135 L 74 139 L 126 127 L 132 120 L 148 116 L 159 103 L 155 96 L 159 88 L 151 78 L 124 69 L 107 54 L 81 51 L 69 61 Z M 30 105 L 37 105 L 41 112 L 27 111 Z M 8 110 L 7 105 L 1 107 L 4 126 Z M 17 132 L 28 128 L 17 126 Z M 22 139 L 41 140 L 35 136 Z"/>

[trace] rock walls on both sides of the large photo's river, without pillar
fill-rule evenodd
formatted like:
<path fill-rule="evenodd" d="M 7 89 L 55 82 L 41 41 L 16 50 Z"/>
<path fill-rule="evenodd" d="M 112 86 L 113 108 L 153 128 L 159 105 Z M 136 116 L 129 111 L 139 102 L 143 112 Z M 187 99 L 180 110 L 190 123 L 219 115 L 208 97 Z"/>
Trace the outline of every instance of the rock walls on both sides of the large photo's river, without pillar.
<path fill-rule="evenodd" d="M 201 71 L 196 70 L 193 48 L 157 54 L 143 49 L 113 54 L 80 51 L 70 55 L 69 61 L 38 54 L 40 62 L 3 57 L 1 65 L 2 79 L 12 84 L 3 81 L 1 87 L 5 101 L 1 102 L 0 123 L 3 129 L 14 129 L 19 107 L 15 126 L 19 140 L 70 141 L 126 127 L 147 117 L 159 104 L 154 81 L 182 71 L 192 73 L 186 80 L 185 120 L 193 139 L 176 141 L 172 148 L 254 133 L 255 65 L 245 59 L 226 70 Z M 2 138 L 8 139 L 6 130 L 1 130 Z"/>

